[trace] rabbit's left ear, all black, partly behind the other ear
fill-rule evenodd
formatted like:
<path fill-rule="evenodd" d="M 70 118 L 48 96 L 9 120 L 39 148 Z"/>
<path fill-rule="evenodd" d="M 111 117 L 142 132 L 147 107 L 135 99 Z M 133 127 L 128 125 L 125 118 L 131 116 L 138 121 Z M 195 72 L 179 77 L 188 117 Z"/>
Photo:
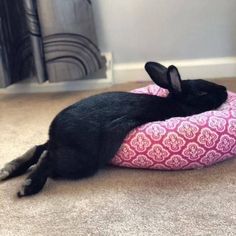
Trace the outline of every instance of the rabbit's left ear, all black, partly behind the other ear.
<path fill-rule="evenodd" d="M 145 70 L 158 86 L 170 89 L 170 83 L 167 79 L 167 68 L 157 62 L 147 62 Z"/>

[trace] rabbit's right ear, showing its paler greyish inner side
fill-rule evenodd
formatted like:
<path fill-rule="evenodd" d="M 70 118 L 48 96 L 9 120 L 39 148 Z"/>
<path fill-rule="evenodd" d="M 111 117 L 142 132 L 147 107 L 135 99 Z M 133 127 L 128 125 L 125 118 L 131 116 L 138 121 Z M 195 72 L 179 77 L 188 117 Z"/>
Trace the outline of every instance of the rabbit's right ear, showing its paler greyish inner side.
<path fill-rule="evenodd" d="M 182 92 L 182 82 L 178 69 L 171 65 L 168 67 L 167 76 L 169 83 L 172 87 L 172 92 L 181 93 Z"/>

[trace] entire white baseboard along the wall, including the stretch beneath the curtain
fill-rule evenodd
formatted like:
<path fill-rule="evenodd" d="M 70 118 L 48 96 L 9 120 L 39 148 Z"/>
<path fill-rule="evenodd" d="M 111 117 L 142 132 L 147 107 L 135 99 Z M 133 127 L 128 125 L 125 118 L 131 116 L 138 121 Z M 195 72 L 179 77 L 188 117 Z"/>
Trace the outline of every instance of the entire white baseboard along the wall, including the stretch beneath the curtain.
<path fill-rule="evenodd" d="M 106 78 L 89 79 L 59 83 L 38 84 L 24 81 L 0 89 L 0 94 L 8 93 L 46 93 L 91 90 L 110 87 L 112 84 L 151 81 L 144 65 L 140 63 L 112 64 L 112 54 L 103 54 L 107 59 Z M 236 57 L 159 61 L 165 66 L 176 65 L 183 79 L 217 79 L 236 77 Z M 236 79 L 235 79 L 236 80 Z"/>

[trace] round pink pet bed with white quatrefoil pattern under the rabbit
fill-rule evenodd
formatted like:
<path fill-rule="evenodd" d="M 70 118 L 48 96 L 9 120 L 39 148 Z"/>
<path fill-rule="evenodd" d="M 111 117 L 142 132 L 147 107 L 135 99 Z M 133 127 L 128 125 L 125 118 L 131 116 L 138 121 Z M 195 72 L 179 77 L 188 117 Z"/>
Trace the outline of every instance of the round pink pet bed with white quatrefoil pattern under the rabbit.
<path fill-rule="evenodd" d="M 157 85 L 133 90 L 166 96 Z M 236 94 L 219 109 L 145 124 L 125 138 L 111 164 L 129 168 L 183 170 L 236 156 Z"/>

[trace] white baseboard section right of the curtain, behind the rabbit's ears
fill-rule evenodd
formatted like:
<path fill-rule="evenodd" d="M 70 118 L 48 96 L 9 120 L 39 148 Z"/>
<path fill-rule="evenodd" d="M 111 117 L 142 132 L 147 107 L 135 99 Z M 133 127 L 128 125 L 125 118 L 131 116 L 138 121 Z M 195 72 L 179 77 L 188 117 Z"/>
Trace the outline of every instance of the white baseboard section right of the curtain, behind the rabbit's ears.
<path fill-rule="evenodd" d="M 159 63 L 165 66 L 177 66 L 183 79 L 236 77 L 236 57 L 160 61 Z M 119 84 L 150 80 L 144 65 L 144 62 L 115 64 L 114 82 Z"/>

